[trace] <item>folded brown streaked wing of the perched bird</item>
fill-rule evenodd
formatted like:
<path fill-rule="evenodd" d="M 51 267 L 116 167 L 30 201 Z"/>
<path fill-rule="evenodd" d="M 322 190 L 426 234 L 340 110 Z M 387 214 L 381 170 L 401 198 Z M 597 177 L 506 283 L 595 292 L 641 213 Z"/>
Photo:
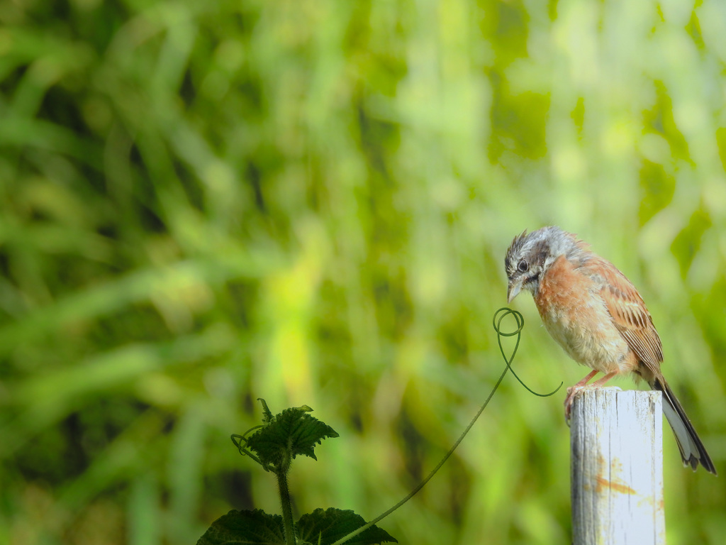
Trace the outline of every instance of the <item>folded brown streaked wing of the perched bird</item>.
<path fill-rule="evenodd" d="M 597 272 L 604 277 L 600 296 L 616 328 L 638 359 L 653 374 L 660 375 L 663 347 L 643 298 L 630 280 L 613 265 L 597 267 Z"/>

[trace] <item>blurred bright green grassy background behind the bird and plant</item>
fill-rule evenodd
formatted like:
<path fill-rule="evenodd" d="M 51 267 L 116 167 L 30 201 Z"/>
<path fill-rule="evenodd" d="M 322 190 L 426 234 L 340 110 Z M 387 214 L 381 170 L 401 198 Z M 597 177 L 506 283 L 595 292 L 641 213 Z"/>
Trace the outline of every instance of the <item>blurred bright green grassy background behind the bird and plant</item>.
<path fill-rule="evenodd" d="M 0 4 L 0 542 L 193 544 L 278 512 L 229 440 L 257 397 L 340 433 L 293 464 L 298 514 L 374 517 L 488 395 L 505 250 L 557 224 L 640 288 L 722 474 L 666 428 L 669 544 L 722 544 L 725 23 L 719 0 Z M 512 306 L 523 379 L 581 379 Z M 568 543 L 563 396 L 508 377 L 381 526 Z"/>

